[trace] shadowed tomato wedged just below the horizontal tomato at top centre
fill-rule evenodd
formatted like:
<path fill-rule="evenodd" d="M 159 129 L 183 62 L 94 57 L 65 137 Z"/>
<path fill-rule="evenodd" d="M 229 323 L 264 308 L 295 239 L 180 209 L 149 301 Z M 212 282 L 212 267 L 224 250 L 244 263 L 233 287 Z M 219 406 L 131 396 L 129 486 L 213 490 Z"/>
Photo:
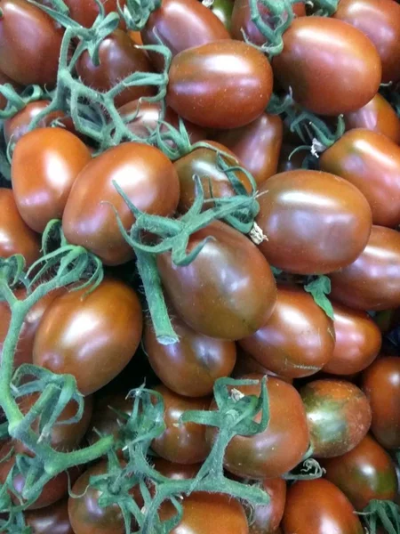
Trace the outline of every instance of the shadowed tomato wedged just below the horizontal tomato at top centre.
<path fill-rule="evenodd" d="M 262 113 L 249 125 L 212 135 L 215 141 L 236 154 L 258 185 L 276 174 L 282 137 L 282 119 L 267 113 Z"/>

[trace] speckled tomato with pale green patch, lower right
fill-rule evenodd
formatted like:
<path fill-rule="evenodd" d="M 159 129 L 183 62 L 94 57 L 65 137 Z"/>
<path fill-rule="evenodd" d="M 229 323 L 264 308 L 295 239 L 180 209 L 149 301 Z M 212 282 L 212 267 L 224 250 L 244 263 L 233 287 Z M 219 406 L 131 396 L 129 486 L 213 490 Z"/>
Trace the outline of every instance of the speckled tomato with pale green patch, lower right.
<path fill-rule="evenodd" d="M 345 454 L 368 432 L 371 408 L 355 384 L 344 380 L 314 380 L 300 389 L 300 395 L 314 457 Z"/>

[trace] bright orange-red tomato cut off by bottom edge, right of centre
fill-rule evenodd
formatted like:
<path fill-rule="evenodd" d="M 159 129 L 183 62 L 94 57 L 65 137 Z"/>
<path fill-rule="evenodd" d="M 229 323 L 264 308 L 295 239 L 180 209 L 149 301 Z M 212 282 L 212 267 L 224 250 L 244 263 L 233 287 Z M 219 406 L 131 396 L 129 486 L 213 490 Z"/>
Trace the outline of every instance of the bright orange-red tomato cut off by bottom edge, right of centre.
<path fill-rule="evenodd" d="M 298 481 L 287 492 L 284 534 L 364 534 L 348 498 L 330 481 Z"/>

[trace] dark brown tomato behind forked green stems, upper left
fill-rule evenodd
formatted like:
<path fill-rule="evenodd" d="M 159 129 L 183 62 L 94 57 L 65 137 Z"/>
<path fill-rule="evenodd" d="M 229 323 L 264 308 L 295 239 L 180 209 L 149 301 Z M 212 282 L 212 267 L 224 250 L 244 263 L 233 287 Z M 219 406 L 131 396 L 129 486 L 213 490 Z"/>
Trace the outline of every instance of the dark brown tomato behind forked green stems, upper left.
<path fill-rule="evenodd" d="M 102 41 L 99 61 L 99 65 L 94 65 L 89 53 L 85 51 L 76 63 L 76 72 L 85 85 L 102 93 L 135 72 L 153 71 L 147 54 L 121 29 L 116 29 Z M 152 96 L 154 93 L 151 85 L 132 85 L 116 94 L 114 101 L 116 106 L 123 106 L 141 96 Z"/>

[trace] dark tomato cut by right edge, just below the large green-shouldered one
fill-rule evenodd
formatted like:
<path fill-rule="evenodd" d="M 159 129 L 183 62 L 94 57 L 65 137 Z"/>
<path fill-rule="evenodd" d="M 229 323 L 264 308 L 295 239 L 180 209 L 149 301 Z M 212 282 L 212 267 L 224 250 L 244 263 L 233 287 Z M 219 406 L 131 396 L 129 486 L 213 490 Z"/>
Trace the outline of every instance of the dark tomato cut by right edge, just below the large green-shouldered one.
<path fill-rule="evenodd" d="M 371 237 L 356 261 L 332 272 L 334 300 L 356 310 L 400 306 L 400 233 L 372 226 Z"/>

